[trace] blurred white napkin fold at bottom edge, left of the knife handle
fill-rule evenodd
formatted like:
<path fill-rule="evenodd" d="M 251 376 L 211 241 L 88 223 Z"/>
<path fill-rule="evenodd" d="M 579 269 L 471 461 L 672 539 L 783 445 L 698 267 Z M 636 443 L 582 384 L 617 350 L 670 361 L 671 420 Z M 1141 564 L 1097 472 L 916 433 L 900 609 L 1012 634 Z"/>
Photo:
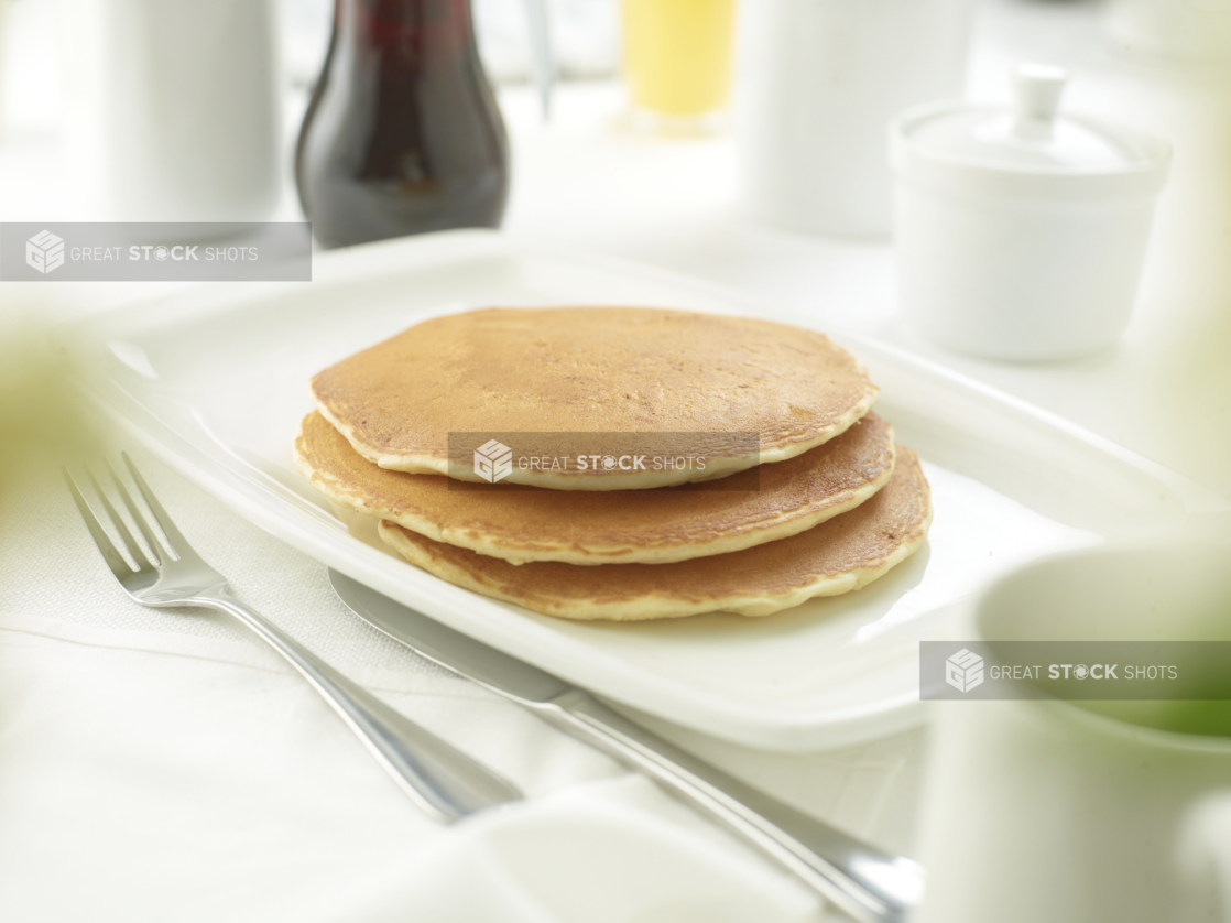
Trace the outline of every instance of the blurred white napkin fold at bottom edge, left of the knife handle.
<path fill-rule="evenodd" d="M 508 923 L 820 919 L 820 902 L 645 779 L 575 785 L 458 825 L 303 919 Z"/>

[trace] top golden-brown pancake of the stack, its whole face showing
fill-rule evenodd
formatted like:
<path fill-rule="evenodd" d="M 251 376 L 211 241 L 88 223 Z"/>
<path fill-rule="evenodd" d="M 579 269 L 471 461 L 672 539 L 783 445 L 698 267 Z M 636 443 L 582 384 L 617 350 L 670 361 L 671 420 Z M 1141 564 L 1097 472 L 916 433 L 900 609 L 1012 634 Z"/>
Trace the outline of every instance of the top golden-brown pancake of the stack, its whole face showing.
<path fill-rule="evenodd" d="M 529 434 L 551 434 L 551 444 L 567 449 L 555 455 L 588 444 L 569 434 L 595 443 L 617 433 L 634 439 L 634 452 L 650 446 L 704 457 L 700 469 L 513 464 L 507 474 L 515 484 L 587 491 L 661 487 L 782 461 L 842 433 L 876 400 L 863 367 L 821 334 L 656 308 L 489 308 L 436 318 L 320 372 L 311 393 L 356 452 L 395 471 L 486 480 L 474 454 L 499 434 L 527 455 L 544 453 L 513 444 L 517 434 L 527 443 Z M 449 433 L 470 434 L 453 447 L 452 465 Z"/>

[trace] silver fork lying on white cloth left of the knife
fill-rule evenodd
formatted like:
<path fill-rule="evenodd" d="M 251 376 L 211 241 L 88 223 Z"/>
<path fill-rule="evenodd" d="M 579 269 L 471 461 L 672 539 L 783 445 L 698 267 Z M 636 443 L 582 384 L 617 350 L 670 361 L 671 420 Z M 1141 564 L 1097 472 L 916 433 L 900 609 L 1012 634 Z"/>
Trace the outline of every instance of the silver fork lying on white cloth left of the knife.
<path fill-rule="evenodd" d="M 111 572 L 116 575 L 116 580 L 119 581 L 119 586 L 128 596 L 143 605 L 197 605 L 219 609 L 243 621 L 311 683 L 325 701 L 355 731 L 368 752 L 393 777 L 401 790 L 436 820 L 452 822 L 485 807 L 522 796 L 511 783 L 389 708 L 316 655 L 282 634 L 255 609 L 234 598 L 227 589 L 227 578 L 192 550 L 192 545 L 180 534 L 161 503 L 158 502 L 158 497 L 145 484 L 145 479 L 133 465 L 132 459 L 128 458 L 127 453 L 121 454 L 137 489 L 145 498 L 154 518 L 158 519 L 175 557 L 169 555 L 162 544 L 154 537 L 145 517 L 137 509 L 133 498 L 110 461 L 106 463 L 107 470 L 116 491 L 128 508 L 133 522 L 137 523 L 137 528 L 145 537 L 155 561 L 150 561 L 140 545 L 133 540 L 132 533 L 116 513 L 89 466 L 86 473 L 90 475 L 90 481 L 94 484 L 111 524 L 123 540 L 128 554 L 137 562 L 135 570 L 112 544 L 66 468 L 64 477 L 68 480 L 73 498 L 76 501 L 98 550 L 102 551 L 107 566 L 111 567 Z"/>

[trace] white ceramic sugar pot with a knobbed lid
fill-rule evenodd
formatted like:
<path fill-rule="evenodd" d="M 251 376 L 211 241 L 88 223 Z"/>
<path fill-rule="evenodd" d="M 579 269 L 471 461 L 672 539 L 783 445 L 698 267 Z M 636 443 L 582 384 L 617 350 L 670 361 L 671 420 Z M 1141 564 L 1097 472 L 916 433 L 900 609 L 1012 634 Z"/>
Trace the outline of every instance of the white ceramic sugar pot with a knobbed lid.
<path fill-rule="evenodd" d="M 890 126 L 899 300 L 943 346 L 1061 359 L 1129 324 L 1171 149 L 1057 116 L 1066 80 L 1023 64 L 1013 110 L 926 103 Z"/>

